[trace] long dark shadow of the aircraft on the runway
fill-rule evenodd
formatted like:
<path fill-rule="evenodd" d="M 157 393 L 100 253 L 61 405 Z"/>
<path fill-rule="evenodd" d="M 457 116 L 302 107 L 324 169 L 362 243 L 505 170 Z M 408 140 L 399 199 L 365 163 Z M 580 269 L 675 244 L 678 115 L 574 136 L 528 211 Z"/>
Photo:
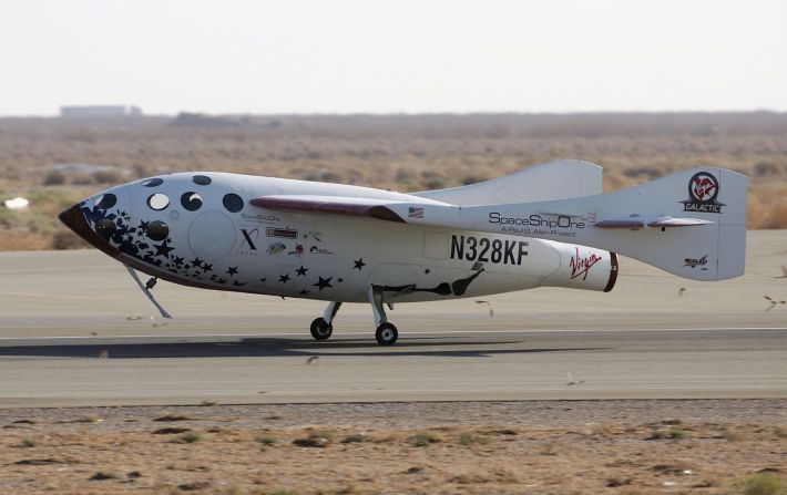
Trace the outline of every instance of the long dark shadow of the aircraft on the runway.
<path fill-rule="evenodd" d="M 450 339 L 450 338 L 444 338 Z M 144 343 L 91 343 L 91 344 L 41 344 L 0 347 L 1 357 L 53 357 L 53 358 L 106 358 L 106 359 L 145 359 L 145 358 L 282 358 L 282 357 L 447 357 L 480 358 L 497 354 L 527 354 L 540 352 L 576 352 L 609 348 L 553 347 L 511 349 L 512 344 L 527 344 L 521 341 L 440 341 L 428 338 L 402 339 L 392 348 L 381 348 L 376 342 L 364 340 L 337 339 L 330 342 L 282 338 L 253 338 L 215 342 L 144 342 Z M 508 346 L 505 349 L 478 349 L 487 346 Z M 457 349 L 462 347 L 463 349 Z M 470 347 L 471 349 L 467 349 Z M 473 349 L 474 348 L 474 349 Z"/>

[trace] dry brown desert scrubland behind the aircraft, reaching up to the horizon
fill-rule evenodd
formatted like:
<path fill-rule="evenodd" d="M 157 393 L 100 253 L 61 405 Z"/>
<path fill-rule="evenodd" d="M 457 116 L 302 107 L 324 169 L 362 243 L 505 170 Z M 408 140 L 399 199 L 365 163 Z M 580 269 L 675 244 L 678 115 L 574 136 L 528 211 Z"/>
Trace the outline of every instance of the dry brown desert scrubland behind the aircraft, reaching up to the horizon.
<path fill-rule="evenodd" d="M 566 157 L 603 165 L 607 190 L 692 166 L 737 169 L 752 179 L 749 227 L 787 228 L 787 114 L 0 118 L 0 199 L 32 204 L 0 208 L 0 250 L 82 247 L 57 213 L 167 171 L 420 190 Z"/>

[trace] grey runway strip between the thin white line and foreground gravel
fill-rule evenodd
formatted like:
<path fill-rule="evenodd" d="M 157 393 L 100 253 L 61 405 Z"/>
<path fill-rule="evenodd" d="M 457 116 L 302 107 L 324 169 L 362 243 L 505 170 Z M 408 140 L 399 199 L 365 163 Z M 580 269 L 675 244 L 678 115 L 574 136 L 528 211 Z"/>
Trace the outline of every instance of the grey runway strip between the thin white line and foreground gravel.
<path fill-rule="evenodd" d="M 361 336 L 327 343 L 277 334 L 8 339 L 0 403 L 781 398 L 784 334 L 423 332 L 403 334 L 394 349 Z"/>

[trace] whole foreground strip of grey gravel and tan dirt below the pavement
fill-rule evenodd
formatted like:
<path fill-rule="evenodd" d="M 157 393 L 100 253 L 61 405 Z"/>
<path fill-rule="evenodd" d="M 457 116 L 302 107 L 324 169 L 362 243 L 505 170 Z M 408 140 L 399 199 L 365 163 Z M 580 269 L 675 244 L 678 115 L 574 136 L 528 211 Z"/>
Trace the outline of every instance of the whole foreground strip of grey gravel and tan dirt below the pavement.
<path fill-rule="evenodd" d="M 9 409 L 0 427 L 0 493 L 726 494 L 787 477 L 787 400 Z"/>

